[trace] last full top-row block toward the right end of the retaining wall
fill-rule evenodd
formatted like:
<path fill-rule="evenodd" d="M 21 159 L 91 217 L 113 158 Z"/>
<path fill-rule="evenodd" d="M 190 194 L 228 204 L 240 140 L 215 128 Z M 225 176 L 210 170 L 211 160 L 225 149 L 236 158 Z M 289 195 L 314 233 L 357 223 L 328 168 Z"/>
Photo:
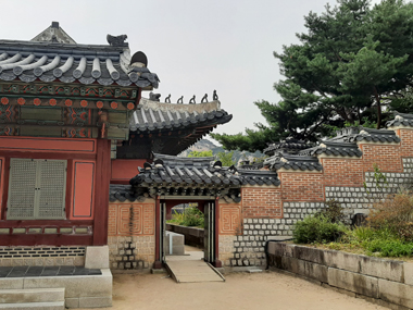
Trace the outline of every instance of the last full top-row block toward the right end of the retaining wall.
<path fill-rule="evenodd" d="M 402 261 L 386 260 L 359 256 L 360 272 L 396 282 L 403 282 L 404 270 Z"/>

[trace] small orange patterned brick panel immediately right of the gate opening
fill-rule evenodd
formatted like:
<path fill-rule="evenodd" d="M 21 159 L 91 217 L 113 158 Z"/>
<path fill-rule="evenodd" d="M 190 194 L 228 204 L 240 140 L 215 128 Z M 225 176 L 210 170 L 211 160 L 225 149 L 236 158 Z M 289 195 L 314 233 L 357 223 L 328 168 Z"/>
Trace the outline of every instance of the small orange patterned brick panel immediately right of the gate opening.
<path fill-rule="evenodd" d="M 220 203 L 220 235 L 239 235 L 242 230 L 240 203 Z"/>

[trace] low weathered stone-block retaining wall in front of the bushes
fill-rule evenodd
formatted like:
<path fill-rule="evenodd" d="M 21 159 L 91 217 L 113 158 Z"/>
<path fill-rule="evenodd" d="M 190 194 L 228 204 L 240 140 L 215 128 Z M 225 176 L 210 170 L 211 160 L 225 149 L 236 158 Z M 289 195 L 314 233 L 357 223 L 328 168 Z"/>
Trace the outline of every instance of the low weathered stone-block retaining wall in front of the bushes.
<path fill-rule="evenodd" d="M 268 264 L 390 309 L 413 308 L 413 264 L 270 243 Z"/>

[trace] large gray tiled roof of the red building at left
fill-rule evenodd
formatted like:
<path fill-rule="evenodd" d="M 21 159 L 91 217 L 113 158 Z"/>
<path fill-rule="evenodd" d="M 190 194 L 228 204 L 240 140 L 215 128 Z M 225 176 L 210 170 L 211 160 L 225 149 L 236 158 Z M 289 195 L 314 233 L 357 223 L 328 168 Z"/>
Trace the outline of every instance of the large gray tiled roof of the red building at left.
<path fill-rule="evenodd" d="M 129 62 L 127 47 L 0 40 L 0 80 L 158 87 L 155 74 L 129 72 Z"/>

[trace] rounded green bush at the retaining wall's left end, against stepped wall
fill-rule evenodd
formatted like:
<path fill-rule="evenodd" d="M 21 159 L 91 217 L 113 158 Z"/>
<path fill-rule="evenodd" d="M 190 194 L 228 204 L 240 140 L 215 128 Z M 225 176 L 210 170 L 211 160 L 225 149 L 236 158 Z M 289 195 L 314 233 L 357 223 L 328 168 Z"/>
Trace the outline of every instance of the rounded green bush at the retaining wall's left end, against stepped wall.
<path fill-rule="evenodd" d="M 346 231 L 343 224 L 331 223 L 328 218 L 318 214 L 297 222 L 293 238 L 299 244 L 326 244 L 338 240 Z"/>

